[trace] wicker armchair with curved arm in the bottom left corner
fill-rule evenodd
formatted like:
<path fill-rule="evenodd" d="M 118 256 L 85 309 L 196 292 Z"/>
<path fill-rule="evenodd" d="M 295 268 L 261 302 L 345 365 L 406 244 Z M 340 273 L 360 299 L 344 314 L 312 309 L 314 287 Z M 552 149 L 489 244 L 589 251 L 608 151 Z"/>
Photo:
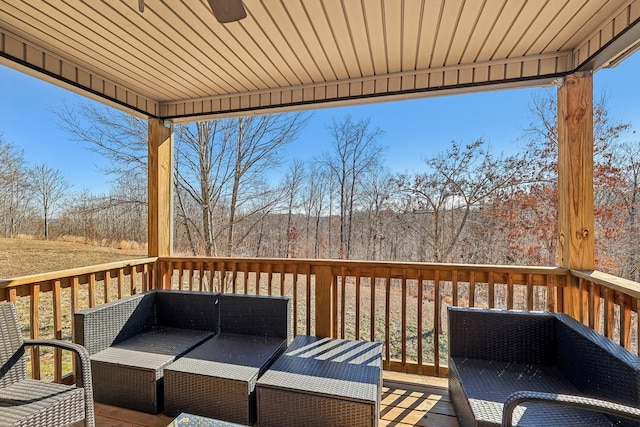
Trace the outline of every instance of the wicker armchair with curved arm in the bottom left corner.
<path fill-rule="evenodd" d="M 78 356 L 84 387 L 27 378 L 25 346 L 53 346 Z M 12 303 L 0 304 L 0 424 L 61 426 L 85 420 L 95 426 L 91 364 L 80 345 L 58 340 L 24 340 Z"/>

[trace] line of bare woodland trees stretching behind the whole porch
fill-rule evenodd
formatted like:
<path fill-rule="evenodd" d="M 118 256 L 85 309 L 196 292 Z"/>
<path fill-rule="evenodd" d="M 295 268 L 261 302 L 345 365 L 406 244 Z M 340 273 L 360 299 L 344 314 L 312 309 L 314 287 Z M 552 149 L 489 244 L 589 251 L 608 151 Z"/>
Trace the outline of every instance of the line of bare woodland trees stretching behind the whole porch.
<path fill-rule="evenodd" d="M 533 98 L 531 112 L 526 147 L 516 154 L 497 153 L 483 139 L 452 141 L 424 158 L 420 171 L 396 174 L 386 167 L 384 131 L 366 118 L 334 118 L 330 148 L 304 160 L 286 156 L 309 117 L 304 113 L 176 125 L 175 251 L 556 265 L 551 92 Z M 4 235 L 39 229 L 45 238 L 144 242 L 146 121 L 86 102 L 64 105 L 58 117 L 71 138 L 110 160 L 103 172 L 113 186 L 108 194 L 70 194 L 60 171 L 26 167 L 23 153 L 0 138 Z M 638 280 L 640 142 L 630 135 L 629 123 L 609 117 L 603 95 L 594 108 L 597 265 Z"/>

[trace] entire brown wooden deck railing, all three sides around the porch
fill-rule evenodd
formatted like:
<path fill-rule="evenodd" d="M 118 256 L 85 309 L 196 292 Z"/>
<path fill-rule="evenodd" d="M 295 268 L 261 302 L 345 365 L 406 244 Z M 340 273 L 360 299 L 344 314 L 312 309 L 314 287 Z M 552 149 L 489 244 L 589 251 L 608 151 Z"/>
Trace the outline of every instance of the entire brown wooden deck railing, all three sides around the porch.
<path fill-rule="evenodd" d="M 380 341 L 385 369 L 446 376 L 447 306 L 563 311 L 576 281 L 581 320 L 638 352 L 640 284 L 554 267 L 145 258 L 0 281 L 0 300 L 16 302 L 25 336 L 70 339 L 75 311 L 154 287 L 287 295 L 294 333 Z M 34 350 L 32 375 L 44 359 L 62 379 L 65 357 Z"/>

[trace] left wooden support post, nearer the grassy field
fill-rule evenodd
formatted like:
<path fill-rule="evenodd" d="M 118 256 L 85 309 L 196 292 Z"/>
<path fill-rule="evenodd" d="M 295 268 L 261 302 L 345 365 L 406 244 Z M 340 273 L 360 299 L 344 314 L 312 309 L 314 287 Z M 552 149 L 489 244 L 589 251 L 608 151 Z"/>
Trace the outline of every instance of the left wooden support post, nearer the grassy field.
<path fill-rule="evenodd" d="M 149 120 L 149 218 L 150 257 L 173 254 L 173 129 L 162 120 Z M 154 277 L 153 287 L 161 286 Z"/>

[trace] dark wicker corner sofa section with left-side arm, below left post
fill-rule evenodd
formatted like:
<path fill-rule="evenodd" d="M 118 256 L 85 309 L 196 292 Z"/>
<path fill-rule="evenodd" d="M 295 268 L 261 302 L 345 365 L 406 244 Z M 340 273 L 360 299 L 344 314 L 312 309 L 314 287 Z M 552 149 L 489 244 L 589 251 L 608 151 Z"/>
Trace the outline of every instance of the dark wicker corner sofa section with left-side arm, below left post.
<path fill-rule="evenodd" d="M 164 368 L 218 332 L 219 297 L 154 290 L 76 313 L 74 340 L 90 354 L 94 400 L 160 412 Z"/>

